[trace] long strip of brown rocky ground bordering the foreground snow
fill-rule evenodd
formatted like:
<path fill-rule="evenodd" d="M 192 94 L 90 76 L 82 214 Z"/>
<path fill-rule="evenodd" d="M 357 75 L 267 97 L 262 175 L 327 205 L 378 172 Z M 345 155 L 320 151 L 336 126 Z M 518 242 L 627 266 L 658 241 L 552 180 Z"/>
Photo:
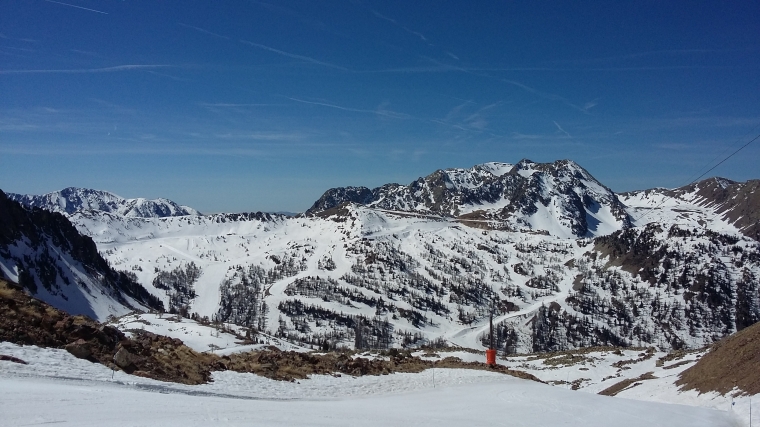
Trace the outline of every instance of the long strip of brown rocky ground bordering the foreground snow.
<path fill-rule="evenodd" d="M 114 370 L 183 384 L 206 383 L 211 381 L 213 371 L 225 370 L 293 381 L 315 374 L 384 375 L 434 367 L 490 370 L 541 382 L 531 374 L 501 365 L 463 362 L 456 357 L 426 361 L 409 351 L 393 349 L 388 351 L 389 360 L 354 358 L 352 352 L 310 354 L 274 347 L 230 356 L 198 353 L 179 339 L 150 332 L 135 330 L 133 337 L 127 337 L 111 326 L 57 310 L 3 280 L 0 280 L 0 341 L 66 349 L 80 359 Z"/>

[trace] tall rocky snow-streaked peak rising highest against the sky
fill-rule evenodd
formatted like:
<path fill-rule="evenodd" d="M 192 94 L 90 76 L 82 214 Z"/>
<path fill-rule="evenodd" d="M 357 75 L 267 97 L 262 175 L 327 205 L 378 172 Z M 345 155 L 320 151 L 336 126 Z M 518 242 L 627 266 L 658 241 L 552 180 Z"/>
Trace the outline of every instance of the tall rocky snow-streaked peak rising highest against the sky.
<path fill-rule="evenodd" d="M 484 163 L 438 170 L 407 186 L 333 188 L 307 214 L 347 202 L 558 237 L 599 236 L 631 226 L 615 193 L 571 160 Z"/>

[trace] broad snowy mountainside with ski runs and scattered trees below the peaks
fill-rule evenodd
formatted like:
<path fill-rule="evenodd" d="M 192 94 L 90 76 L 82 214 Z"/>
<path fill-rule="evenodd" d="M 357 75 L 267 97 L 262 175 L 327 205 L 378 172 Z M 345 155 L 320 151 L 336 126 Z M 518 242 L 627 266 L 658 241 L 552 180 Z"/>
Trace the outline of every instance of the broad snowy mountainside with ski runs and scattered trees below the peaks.
<path fill-rule="evenodd" d="M 167 307 L 307 346 L 478 348 L 492 304 L 506 352 L 701 347 L 760 319 L 760 244 L 726 223 L 568 239 L 359 205 L 323 216 L 72 221 Z"/>

